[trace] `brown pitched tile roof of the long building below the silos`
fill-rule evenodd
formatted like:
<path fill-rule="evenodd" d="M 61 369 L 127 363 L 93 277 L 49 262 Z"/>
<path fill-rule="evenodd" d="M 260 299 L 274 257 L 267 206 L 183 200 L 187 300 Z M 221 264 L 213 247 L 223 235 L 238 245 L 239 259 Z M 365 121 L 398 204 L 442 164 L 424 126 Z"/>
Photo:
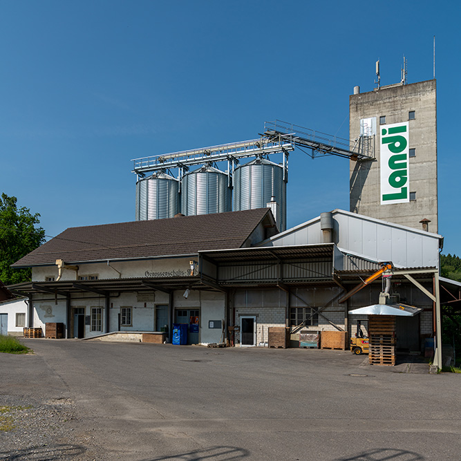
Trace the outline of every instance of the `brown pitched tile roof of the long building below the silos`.
<path fill-rule="evenodd" d="M 240 248 L 268 208 L 131 223 L 69 227 L 12 267 L 136 259 Z M 272 218 L 272 215 L 270 215 Z"/>

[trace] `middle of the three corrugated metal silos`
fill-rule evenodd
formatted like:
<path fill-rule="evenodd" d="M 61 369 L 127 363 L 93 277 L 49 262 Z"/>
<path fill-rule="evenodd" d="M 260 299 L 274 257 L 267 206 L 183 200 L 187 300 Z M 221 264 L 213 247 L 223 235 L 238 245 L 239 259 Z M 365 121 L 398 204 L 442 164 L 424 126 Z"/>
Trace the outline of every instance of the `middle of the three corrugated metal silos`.
<path fill-rule="evenodd" d="M 182 178 L 181 212 L 186 216 L 232 210 L 226 173 L 205 165 Z"/>

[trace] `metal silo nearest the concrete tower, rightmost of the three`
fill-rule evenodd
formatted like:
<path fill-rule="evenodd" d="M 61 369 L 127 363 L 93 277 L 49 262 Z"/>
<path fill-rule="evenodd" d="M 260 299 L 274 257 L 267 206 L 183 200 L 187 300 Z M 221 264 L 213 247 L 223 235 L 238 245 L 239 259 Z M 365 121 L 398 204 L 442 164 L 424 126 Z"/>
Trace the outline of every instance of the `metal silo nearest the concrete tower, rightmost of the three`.
<path fill-rule="evenodd" d="M 286 182 L 283 167 L 263 158 L 256 158 L 234 171 L 234 211 L 265 208 L 274 196 L 279 205 L 275 217 L 277 227 L 286 229 Z"/>

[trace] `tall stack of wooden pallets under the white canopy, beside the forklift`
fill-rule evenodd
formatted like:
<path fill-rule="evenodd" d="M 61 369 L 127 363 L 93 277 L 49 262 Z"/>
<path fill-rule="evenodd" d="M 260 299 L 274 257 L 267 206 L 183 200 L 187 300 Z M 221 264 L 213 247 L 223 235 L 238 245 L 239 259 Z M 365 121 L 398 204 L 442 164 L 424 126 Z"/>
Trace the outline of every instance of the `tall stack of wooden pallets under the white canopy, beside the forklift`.
<path fill-rule="evenodd" d="M 371 365 L 395 365 L 395 316 L 368 317 L 369 353 Z"/>

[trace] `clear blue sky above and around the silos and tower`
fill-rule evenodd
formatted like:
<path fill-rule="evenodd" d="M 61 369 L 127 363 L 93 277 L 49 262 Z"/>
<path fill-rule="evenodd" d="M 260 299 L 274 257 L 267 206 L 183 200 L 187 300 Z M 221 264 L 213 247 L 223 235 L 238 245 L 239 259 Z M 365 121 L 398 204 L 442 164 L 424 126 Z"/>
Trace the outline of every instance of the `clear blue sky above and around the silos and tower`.
<path fill-rule="evenodd" d="M 458 1 L 0 2 L 0 191 L 48 236 L 135 218 L 132 158 L 254 139 L 266 120 L 348 138 L 355 85 L 438 80 L 439 233 L 461 255 Z M 348 210 L 348 160 L 290 156 L 288 227 Z"/>

